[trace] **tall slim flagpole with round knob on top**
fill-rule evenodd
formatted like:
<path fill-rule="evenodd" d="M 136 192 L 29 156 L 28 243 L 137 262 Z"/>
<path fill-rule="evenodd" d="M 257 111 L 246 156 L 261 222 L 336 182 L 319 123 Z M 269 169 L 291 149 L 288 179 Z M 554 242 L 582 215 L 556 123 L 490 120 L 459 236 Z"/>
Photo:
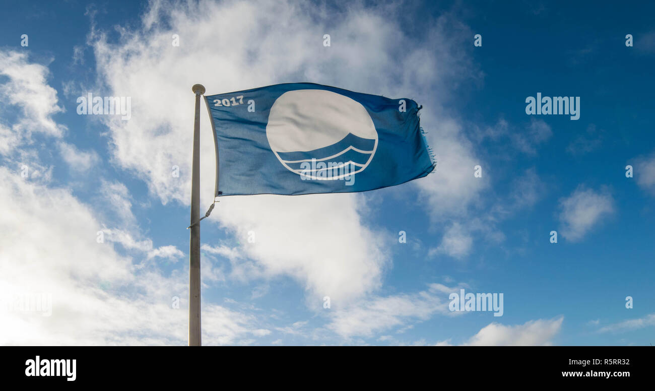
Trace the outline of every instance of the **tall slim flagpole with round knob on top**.
<path fill-rule="evenodd" d="M 189 238 L 189 346 L 200 346 L 200 95 L 205 89 L 195 84 L 196 118 L 193 124 L 193 165 L 191 176 L 191 234 Z"/>

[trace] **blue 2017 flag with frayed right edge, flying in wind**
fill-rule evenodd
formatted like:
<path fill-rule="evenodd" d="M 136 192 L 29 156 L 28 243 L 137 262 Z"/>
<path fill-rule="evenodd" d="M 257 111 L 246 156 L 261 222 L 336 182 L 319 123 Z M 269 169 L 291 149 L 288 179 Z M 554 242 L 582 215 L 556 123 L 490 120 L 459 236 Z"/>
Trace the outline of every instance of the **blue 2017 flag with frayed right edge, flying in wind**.
<path fill-rule="evenodd" d="M 435 167 L 421 107 L 407 98 L 287 83 L 205 99 L 218 155 L 216 195 L 368 191 Z"/>

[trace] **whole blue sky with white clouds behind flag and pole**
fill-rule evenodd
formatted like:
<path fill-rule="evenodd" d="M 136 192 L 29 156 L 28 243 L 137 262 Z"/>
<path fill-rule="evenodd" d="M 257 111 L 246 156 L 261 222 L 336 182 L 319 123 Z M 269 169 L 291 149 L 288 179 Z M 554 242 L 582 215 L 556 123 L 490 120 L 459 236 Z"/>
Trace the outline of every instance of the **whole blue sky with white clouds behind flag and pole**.
<path fill-rule="evenodd" d="M 52 314 L 5 306 L 0 343 L 185 344 L 191 85 L 301 81 L 416 100 L 437 171 L 221 200 L 204 344 L 652 343 L 652 5 L 376 3 L 3 5 L 0 293 Z M 78 115 L 88 92 L 131 118 Z M 527 115 L 538 92 L 579 96 L 580 119 Z M 503 315 L 451 312 L 462 288 L 503 293 Z"/>

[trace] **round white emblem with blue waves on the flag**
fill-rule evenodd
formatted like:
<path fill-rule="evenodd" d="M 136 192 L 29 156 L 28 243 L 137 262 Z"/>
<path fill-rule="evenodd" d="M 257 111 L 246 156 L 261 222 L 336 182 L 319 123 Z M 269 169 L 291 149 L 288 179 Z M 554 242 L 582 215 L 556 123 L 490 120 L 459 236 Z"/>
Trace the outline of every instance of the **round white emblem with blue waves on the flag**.
<path fill-rule="evenodd" d="M 378 141 L 373 119 L 364 106 L 327 90 L 293 90 L 280 95 L 271 107 L 266 137 L 288 170 L 324 180 L 362 172 L 373 160 Z M 303 170 L 299 166 L 306 168 L 305 162 L 332 164 L 333 170 L 314 170 L 314 166 Z M 345 169 L 347 174 L 343 174 Z"/>

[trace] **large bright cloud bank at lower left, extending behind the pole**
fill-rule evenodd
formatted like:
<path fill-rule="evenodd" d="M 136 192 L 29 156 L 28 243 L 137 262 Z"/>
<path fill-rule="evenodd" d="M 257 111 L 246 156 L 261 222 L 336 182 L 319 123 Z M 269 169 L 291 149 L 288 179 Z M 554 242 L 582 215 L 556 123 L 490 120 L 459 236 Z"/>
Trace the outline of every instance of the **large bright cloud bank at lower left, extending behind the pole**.
<path fill-rule="evenodd" d="M 0 344 L 186 343 L 187 270 L 162 276 L 96 242 L 101 224 L 69 191 L 30 183 L 5 167 L 0 181 L 0 301 L 52 295 L 52 316 L 3 303 Z M 204 303 L 202 318 L 205 344 L 265 335 L 253 314 Z"/>

